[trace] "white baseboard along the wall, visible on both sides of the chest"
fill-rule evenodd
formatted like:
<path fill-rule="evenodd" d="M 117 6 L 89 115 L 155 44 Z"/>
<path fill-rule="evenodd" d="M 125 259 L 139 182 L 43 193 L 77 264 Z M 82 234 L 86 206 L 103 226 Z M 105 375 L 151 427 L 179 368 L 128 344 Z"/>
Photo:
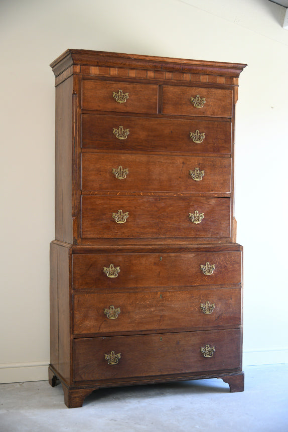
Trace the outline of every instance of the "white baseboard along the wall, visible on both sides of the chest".
<path fill-rule="evenodd" d="M 243 367 L 288 363 L 288 349 L 244 351 Z M 45 381 L 49 362 L 0 364 L 0 383 Z"/>

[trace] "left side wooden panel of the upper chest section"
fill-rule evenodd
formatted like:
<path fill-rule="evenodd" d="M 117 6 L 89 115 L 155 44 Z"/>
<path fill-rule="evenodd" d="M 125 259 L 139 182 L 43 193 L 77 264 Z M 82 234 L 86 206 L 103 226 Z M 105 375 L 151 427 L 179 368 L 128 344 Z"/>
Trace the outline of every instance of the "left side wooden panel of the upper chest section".
<path fill-rule="evenodd" d="M 73 76 L 56 87 L 55 238 L 72 243 Z"/>

